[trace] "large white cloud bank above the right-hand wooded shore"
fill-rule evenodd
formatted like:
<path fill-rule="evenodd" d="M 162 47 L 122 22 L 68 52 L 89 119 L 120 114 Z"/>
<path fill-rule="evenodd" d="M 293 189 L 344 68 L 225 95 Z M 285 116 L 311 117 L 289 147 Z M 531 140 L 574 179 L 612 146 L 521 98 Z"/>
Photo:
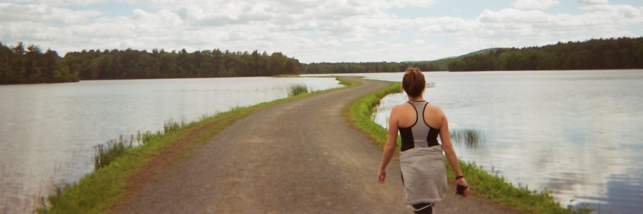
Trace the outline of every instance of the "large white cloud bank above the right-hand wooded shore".
<path fill-rule="evenodd" d="M 580 15 L 507 8 L 497 12 L 485 10 L 476 19 L 438 17 L 415 21 L 422 26 L 421 31 L 425 35 L 458 37 L 460 47 L 471 47 L 470 51 L 487 47 L 546 45 L 555 43 L 559 38 L 640 37 L 640 34 L 619 27 L 643 24 L 641 8 L 616 5 L 594 7 L 595 11 Z"/>

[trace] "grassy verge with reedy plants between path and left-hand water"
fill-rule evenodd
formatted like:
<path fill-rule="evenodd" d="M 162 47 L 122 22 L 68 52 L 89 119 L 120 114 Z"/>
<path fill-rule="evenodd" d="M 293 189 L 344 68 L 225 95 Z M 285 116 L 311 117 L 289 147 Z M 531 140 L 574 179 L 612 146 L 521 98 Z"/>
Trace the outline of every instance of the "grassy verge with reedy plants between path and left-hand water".
<path fill-rule="evenodd" d="M 336 79 L 347 86 L 356 85 L 341 77 Z M 191 133 L 197 133 L 197 136 L 190 138 L 188 145 L 205 142 L 235 120 L 261 108 L 338 89 L 340 88 L 303 93 L 254 106 L 233 108 L 230 111 L 203 117 L 196 122 L 179 124 L 170 121 L 165 124 L 163 131 L 137 135 L 136 141 L 139 142 L 139 146 L 131 146 L 133 137 L 129 142 L 122 138 L 112 141 L 107 146 L 97 148 L 94 172 L 82 177 L 77 183 L 57 186 L 54 193 L 43 197 L 43 207 L 38 208 L 37 212 L 100 213 L 110 208 L 118 197 L 125 193 L 125 187 L 131 185 L 129 182 L 133 174 L 143 169 L 154 156 L 158 156 L 173 144 L 185 140 Z M 203 130 L 204 128 L 206 129 Z"/>

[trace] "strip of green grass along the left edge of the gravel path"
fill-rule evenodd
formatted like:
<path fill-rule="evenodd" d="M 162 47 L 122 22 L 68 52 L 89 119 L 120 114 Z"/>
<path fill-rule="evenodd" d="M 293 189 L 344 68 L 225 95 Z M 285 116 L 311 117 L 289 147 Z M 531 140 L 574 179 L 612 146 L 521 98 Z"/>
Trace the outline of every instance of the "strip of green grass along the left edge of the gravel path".
<path fill-rule="evenodd" d="M 69 211 L 101 213 L 111 207 L 128 190 L 136 188 L 136 184 L 132 184 L 131 181 L 137 175 L 141 176 L 141 171 L 146 167 L 154 167 L 150 163 L 157 157 L 163 156 L 169 159 L 165 160 L 166 162 L 185 158 L 186 154 L 182 152 L 183 150 L 192 145 L 204 143 L 208 138 L 216 135 L 235 120 L 246 117 L 262 108 L 354 86 L 354 83 L 345 80 L 343 77 L 336 77 L 336 79 L 340 81 L 340 85 L 344 86 L 285 97 L 251 106 L 233 107 L 228 111 L 203 117 L 203 119 L 178 124 L 179 126 L 169 131 L 144 133 L 147 136 L 144 136 L 145 143 L 143 145 L 132 147 L 125 151 L 122 156 L 112 160 L 109 165 L 86 174 L 75 183 L 55 185 L 52 193 L 41 197 L 41 206 L 35 208 L 35 211 L 37 213 L 68 213 Z M 180 145 L 175 145 L 177 143 Z M 149 174 L 146 176 L 149 176 Z"/>

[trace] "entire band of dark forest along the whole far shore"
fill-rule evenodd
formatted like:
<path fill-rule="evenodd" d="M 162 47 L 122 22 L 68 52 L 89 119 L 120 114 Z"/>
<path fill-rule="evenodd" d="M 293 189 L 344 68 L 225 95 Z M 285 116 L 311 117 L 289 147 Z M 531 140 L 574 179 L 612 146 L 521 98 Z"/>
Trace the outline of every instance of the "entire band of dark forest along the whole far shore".
<path fill-rule="evenodd" d="M 422 71 L 450 70 L 583 70 L 643 69 L 643 37 L 558 42 L 523 48 L 493 48 L 453 58 L 420 62 L 300 63 L 282 53 L 258 51 L 167 52 L 83 50 L 44 53 L 36 45 L 0 42 L 0 84 L 61 83 L 89 79 L 219 78 L 276 76 L 280 74 L 341 74 L 400 72 L 407 67 Z"/>

